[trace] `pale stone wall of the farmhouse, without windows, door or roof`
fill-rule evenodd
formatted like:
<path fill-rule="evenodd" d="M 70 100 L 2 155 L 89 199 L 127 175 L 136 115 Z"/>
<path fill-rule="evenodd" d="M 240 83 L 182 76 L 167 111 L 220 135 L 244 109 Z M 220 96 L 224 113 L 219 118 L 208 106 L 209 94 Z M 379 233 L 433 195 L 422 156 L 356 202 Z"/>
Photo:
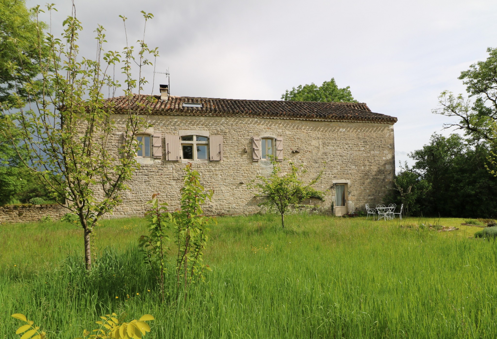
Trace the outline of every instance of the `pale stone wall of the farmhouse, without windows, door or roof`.
<path fill-rule="evenodd" d="M 115 114 L 114 142 L 122 140 L 125 115 Z M 179 206 L 183 169 L 191 161 L 166 161 L 165 134 L 179 130 L 208 131 L 223 136 L 222 161 L 193 162 L 206 188 L 214 189 L 204 211 L 212 214 L 254 213 L 259 210 L 254 192 L 247 188 L 256 175 L 267 175 L 267 161 L 252 161 L 252 136 L 283 138 L 285 158 L 303 164 L 310 179 L 324 168 L 316 188 L 327 191 L 323 208 L 334 199 L 333 183 L 347 183 L 348 210 L 365 203 L 381 203 L 392 187 L 395 172 L 394 129 L 391 123 L 313 121 L 261 117 L 151 115 L 146 132 L 161 134 L 162 159 L 139 158 L 141 168 L 129 182 L 130 191 L 114 210 L 114 217 L 143 216 L 153 193 L 161 193 L 171 209 Z M 292 152 L 294 151 L 294 152 Z M 287 162 L 283 162 L 287 166 Z"/>

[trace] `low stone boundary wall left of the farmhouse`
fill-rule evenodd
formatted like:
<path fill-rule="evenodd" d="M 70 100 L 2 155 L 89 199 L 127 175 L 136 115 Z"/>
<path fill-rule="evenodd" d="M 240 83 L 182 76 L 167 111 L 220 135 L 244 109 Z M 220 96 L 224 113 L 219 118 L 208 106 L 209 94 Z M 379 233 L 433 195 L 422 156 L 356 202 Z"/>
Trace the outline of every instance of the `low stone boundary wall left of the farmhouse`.
<path fill-rule="evenodd" d="M 37 222 L 45 216 L 60 220 L 69 210 L 57 204 L 0 206 L 0 224 Z"/>

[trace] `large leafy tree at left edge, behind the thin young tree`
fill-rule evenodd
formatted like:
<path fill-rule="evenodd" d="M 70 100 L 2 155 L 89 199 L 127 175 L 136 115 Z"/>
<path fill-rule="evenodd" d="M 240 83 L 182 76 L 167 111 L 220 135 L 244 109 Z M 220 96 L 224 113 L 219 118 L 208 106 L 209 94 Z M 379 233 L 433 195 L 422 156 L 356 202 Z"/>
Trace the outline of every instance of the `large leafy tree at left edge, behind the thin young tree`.
<path fill-rule="evenodd" d="M 27 97 L 27 91 L 15 84 L 28 78 L 35 81 L 39 74 L 39 59 L 44 58 L 48 51 L 47 45 L 43 44 L 45 26 L 36 21 L 24 0 L 0 0 L 0 103 L 12 102 L 14 94 Z M 22 149 L 16 150 L 10 138 L 2 133 L 5 131 L 2 122 L 0 205 L 13 201 L 25 203 L 30 198 L 45 196 L 47 192 L 38 176 L 21 162 L 17 152 L 22 152 Z"/>

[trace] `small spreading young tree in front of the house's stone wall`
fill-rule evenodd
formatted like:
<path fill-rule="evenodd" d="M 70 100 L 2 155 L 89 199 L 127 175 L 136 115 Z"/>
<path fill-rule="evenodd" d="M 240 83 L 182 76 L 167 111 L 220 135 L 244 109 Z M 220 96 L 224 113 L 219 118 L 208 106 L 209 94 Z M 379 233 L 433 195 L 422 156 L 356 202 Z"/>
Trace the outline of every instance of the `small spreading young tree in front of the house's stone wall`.
<path fill-rule="evenodd" d="M 281 215 L 281 227 L 285 228 L 285 213 L 288 212 L 291 205 L 311 197 L 324 200 L 324 193 L 311 187 L 321 178 L 323 170 L 318 173 L 316 178 L 305 184 L 299 177 L 307 173 L 303 165 L 297 166 L 293 162 L 288 162 L 289 171 L 282 173 L 280 164 L 273 157 L 270 161 L 273 170 L 269 177 L 257 175 L 256 179 L 248 184 L 248 188 L 257 191 L 256 197 L 265 198 L 261 205 L 267 204 L 276 207 Z"/>

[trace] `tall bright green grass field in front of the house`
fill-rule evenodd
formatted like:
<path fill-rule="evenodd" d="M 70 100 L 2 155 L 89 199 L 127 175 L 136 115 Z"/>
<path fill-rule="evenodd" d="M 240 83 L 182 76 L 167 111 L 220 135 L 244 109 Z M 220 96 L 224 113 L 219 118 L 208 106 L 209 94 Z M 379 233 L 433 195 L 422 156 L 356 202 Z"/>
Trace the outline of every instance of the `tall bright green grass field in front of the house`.
<path fill-rule="evenodd" d="M 142 219 L 102 221 L 91 274 L 80 229 L 1 225 L 0 338 L 18 337 L 12 313 L 72 339 L 112 311 L 153 314 L 150 339 L 497 337 L 497 247 L 462 219 L 294 215 L 285 230 L 271 215 L 217 221 L 204 258 L 213 271 L 179 305 L 160 303 L 137 253 Z M 460 229 L 416 227 L 429 223 Z M 172 271 L 171 261 L 168 284 Z"/>

